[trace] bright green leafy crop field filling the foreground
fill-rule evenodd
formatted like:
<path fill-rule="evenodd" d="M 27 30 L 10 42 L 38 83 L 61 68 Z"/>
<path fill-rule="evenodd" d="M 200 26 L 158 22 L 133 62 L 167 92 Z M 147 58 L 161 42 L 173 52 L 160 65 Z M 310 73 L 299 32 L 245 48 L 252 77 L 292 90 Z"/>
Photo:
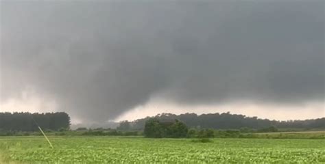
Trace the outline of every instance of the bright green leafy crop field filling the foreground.
<path fill-rule="evenodd" d="M 324 163 L 324 139 L 0 137 L 0 163 Z"/>

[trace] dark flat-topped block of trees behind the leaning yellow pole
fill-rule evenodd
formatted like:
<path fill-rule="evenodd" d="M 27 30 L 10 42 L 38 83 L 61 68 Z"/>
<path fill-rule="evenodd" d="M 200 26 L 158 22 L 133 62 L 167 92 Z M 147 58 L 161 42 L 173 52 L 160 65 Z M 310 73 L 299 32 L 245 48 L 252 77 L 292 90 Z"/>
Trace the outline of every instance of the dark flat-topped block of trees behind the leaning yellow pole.
<path fill-rule="evenodd" d="M 70 128 L 67 113 L 0 113 L 0 131 L 38 131 L 38 126 L 45 131 L 59 131 Z"/>

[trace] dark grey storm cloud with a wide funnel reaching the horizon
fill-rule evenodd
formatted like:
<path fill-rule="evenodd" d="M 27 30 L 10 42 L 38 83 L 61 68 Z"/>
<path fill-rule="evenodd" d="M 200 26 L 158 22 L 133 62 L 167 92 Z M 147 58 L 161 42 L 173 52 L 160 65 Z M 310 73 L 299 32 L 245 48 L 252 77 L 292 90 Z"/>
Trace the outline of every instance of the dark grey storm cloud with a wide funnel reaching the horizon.
<path fill-rule="evenodd" d="M 1 1 L 1 99 L 107 120 L 181 103 L 324 100 L 323 1 Z"/>

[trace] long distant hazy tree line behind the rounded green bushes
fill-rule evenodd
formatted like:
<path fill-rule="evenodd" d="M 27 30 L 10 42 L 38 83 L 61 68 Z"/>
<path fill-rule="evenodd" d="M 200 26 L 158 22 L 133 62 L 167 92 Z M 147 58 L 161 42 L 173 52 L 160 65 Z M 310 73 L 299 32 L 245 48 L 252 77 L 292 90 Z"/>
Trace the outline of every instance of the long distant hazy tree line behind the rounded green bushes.
<path fill-rule="evenodd" d="M 325 118 L 311 119 L 311 120 L 289 120 L 276 121 L 268 119 L 260 119 L 257 117 L 247 117 L 245 115 L 237 115 L 227 113 L 208 113 L 197 115 L 195 113 L 184 113 L 175 115 L 171 113 L 162 113 L 154 117 L 147 117 L 133 122 L 123 121 L 120 123 L 121 130 L 136 130 L 142 131 L 145 128 L 145 122 L 149 119 L 155 118 L 162 122 L 173 122 L 173 120 L 180 120 L 184 122 L 189 128 L 213 128 L 213 129 L 263 129 L 274 126 L 276 128 L 304 128 L 304 129 L 324 129 Z"/>

